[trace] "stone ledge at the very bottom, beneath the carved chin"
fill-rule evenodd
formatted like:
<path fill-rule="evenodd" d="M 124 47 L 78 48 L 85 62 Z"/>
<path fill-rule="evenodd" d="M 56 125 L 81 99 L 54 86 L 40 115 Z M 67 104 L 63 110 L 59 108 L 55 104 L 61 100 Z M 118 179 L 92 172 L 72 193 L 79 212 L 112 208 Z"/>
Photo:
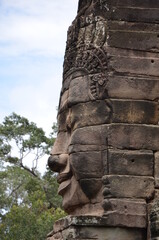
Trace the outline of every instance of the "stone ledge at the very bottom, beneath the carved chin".
<path fill-rule="evenodd" d="M 66 217 L 57 221 L 47 240 L 145 240 L 144 229 L 109 227 L 107 218 L 96 216 Z"/>

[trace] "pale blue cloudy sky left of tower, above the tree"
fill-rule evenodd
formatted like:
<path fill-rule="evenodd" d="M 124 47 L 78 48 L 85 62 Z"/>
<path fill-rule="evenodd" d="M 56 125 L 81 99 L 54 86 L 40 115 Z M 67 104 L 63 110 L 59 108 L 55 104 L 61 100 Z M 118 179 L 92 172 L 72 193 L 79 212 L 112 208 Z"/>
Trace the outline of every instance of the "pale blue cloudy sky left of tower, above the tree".
<path fill-rule="evenodd" d="M 49 132 L 78 0 L 0 0 L 0 121 L 13 111 Z"/>

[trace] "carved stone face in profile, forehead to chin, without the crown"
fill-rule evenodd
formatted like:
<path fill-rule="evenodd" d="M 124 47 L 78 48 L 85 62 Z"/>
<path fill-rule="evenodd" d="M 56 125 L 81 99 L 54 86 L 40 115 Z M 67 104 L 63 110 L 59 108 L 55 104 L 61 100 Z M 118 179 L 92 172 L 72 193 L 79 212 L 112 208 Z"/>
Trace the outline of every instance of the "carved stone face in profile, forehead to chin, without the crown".
<path fill-rule="evenodd" d="M 59 133 L 49 158 L 50 168 L 59 173 L 58 192 L 68 213 L 74 207 L 101 205 L 102 201 L 101 179 L 107 154 L 102 124 L 109 121 L 111 108 L 107 100 L 91 99 L 90 81 L 84 70 L 73 71 L 65 79 L 58 112 Z"/>

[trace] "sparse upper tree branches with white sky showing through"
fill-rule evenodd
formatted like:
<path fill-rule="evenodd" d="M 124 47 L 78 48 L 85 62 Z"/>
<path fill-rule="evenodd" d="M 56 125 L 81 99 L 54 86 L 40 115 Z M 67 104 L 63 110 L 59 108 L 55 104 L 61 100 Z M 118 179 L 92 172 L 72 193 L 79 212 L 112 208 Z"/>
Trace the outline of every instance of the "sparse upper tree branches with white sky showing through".
<path fill-rule="evenodd" d="M 46 137 L 43 129 L 35 123 L 13 113 L 0 124 L 0 157 L 5 162 L 25 168 L 24 160 L 29 155 L 32 158 L 32 168 L 26 167 L 25 170 L 36 175 L 38 160 L 49 152 L 53 140 Z"/>

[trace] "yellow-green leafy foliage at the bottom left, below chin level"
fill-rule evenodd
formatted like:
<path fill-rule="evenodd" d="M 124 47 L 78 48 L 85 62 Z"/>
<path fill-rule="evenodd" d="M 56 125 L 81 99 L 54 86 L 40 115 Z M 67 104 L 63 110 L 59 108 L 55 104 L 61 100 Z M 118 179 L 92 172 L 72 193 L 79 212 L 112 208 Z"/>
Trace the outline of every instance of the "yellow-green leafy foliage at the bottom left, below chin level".
<path fill-rule="evenodd" d="M 13 206 L 0 225 L 1 240 L 44 240 L 53 222 L 62 216 L 60 208 L 46 210 L 42 200 L 36 203 L 35 209 Z"/>

